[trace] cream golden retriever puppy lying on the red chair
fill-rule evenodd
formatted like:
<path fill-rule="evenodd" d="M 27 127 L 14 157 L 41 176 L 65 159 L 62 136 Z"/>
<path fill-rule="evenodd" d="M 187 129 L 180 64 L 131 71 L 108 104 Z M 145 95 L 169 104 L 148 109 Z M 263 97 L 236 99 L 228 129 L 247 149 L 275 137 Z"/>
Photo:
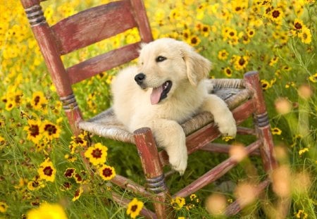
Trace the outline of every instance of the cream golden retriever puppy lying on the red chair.
<path fill-rule="evenodd" d="M 180 123 L 209 111 L 224 135 L 235 137 L 232 113 L 218 96 L 209 94 L 206 77 L 211 62 L 184 42 L 157 39 L 142 45 L 138 65 L 113 80 L 113 110 L 130 132 L 150 127 L 170 165 L 181 175 L 187 167 L 185 133 Z"/>

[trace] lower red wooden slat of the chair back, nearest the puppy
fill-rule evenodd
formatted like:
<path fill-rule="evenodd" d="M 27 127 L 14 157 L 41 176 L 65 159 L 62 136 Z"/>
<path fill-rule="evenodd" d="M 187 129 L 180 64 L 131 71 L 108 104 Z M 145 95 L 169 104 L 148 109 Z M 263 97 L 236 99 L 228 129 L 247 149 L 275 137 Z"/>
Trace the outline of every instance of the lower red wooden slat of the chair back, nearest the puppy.
<path fill-rule="evenodd" d="M 109 51 L 106 54 L 101 54 L 78 63 L 77 65 L 73 65 L 67 69 L 70 77 L 70 83 L 73 85 L 88 77 L 92 77 L 105 70 L 114 68 L 117 65 L 122 65 L 128 61 L 132 61 L 139 56 L 138 49 L 139 42 L 123 46 L 120 49 Z"/>

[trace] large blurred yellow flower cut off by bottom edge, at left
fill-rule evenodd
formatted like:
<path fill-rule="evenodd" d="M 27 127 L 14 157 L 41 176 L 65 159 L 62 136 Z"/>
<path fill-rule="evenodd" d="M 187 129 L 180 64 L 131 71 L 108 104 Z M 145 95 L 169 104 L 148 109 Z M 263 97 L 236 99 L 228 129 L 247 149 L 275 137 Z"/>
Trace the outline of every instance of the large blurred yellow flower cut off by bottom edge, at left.
<path fill-rule="evenodd" d="M 39 208 L 27 211 L 27 219 L 67 219 L 67 215 L 59 204 L 41 204 Z"/>

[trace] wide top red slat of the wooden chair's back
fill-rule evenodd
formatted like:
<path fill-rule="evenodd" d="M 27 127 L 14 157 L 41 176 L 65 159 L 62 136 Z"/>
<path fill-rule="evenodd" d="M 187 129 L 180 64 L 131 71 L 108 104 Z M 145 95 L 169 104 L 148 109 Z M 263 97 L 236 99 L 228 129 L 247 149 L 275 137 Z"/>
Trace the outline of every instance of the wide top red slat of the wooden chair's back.
<path fill-rule="evenodd" d="M 129 4 L 130 1 L 111 2 L 56 23 L 52 30 L 61 55 L 136 27 Z"/>

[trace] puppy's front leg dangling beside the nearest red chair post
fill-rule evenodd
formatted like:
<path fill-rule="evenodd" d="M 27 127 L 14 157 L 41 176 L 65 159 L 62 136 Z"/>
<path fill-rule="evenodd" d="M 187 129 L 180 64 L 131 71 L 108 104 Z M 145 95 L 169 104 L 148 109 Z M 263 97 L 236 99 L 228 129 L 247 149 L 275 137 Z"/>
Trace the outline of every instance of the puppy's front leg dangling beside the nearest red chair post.
<path fill-rule="evenodd" d="M 153 121 L 151 130 L 156 142 L 167 152 L 172 168 L 180 175 L 184 174 L 187 167 L 187 148 L 182 127 L 173 120 L 159 119 Z"/>

